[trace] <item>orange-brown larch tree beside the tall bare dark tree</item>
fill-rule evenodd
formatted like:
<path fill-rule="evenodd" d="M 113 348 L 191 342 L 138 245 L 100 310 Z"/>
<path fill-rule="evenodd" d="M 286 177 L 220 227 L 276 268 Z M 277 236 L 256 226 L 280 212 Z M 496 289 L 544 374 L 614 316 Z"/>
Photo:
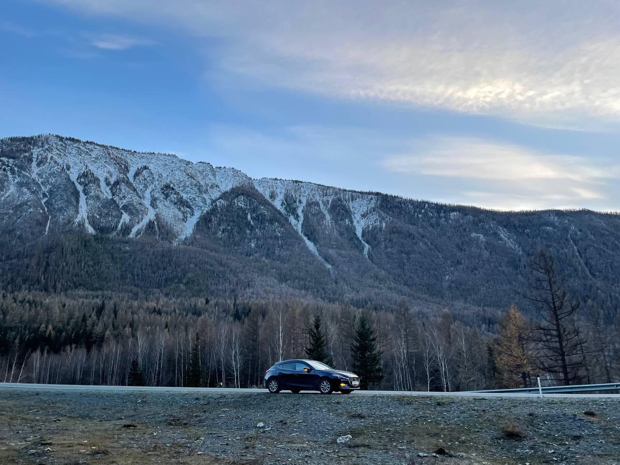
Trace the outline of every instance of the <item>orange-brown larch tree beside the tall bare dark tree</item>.
<path fill-rule="evenodd" d="M 523 315 L 511 306 L 499 321 L 495 363 L 502 387 L 531 386 L 531 334 Z"/>

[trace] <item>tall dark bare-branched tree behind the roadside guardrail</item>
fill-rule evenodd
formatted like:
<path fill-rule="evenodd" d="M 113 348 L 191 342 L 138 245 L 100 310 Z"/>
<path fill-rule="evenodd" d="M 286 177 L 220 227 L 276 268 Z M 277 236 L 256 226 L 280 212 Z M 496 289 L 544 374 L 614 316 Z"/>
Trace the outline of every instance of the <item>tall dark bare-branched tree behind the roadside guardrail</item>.
<path fill-rule="evenodd" d="M 534 358 L 541 370 L 571 384 L 580 377 L 587 353 L 575 325 L 579 302 L 570 296 L 548 252 L 539 251 L 529 266 L 533 274 L 531 294 L 524 297 L 534 304 L 541 317 L 533 328 L 532 340 L 539 349 Z"/>

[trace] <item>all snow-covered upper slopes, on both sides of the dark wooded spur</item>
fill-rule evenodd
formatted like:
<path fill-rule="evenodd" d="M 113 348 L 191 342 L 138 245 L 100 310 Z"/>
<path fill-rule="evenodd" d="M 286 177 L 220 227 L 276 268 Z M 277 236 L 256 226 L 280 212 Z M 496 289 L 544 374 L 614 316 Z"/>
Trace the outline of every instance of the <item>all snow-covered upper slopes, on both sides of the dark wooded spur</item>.
<path fill-rule="evenodd" d="M 309 182 L 252 180 L 236 169 L 169 154 L 56 135 L 6 138 L 0 146 L 4 226 L 27 239 L 78 228 L 112 236 L 156 234 L 181 242 L 223 192 L 254 185 L 288 219 L 312 254 L 332 268 L 313 238 L 337 229 L 332 218 L 335 203 L 346 211 L 337 220 L 352 228 L 366 258 L 370 246 L 363 238 L 365 228 L 384 227 L 389 219 L 376 210 L 374 194 Z M 320 216 L 314 229 L 304 215 Z"/>

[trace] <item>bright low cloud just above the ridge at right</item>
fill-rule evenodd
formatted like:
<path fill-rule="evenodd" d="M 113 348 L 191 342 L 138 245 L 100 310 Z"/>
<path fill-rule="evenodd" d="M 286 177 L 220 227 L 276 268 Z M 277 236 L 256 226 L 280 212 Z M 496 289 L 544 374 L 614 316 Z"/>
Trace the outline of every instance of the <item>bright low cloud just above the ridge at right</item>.
<path fill-rule="evenodd" d="M 449 203 L 500 210 L 618 208 L 613 199 L 618 195 L 620 164 L 596 157 L 438 136 L 410 141 L 404 153 L 384 157 L 379 166 L 403 177 L 432 176 L 438 185 L 456 186 L 452 197 L 444 199 Z"/>

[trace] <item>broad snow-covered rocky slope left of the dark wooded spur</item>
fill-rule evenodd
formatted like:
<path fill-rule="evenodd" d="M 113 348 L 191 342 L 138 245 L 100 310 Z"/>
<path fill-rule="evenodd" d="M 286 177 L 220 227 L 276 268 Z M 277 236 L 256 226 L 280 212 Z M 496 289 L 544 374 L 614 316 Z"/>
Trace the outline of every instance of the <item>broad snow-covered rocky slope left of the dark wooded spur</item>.
<path fill-rule="evenodd" d="M 0 146 L 3 223 L 29 239 L 67 228 L 138 237 L 151 228 L 181 241 L 222 192 L 251 182 L 232 168 L 55 135 Z"/>

